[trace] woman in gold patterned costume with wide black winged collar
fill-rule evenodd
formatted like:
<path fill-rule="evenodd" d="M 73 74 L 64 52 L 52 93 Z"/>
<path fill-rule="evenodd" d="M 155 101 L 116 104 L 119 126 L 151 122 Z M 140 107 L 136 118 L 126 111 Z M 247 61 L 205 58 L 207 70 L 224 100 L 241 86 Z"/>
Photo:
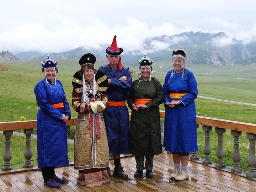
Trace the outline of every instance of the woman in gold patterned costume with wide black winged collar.
<path fill-rule="evenodd" d="M 74 167 L 77 182 L 87 187 L 102 186 L 110 181 L 107 174 L 109 150 L 102 111 L 107 107 L 105 74 L 94 69 L 96 58 L 87 53 L 81 57 L 81 69 L 73 76 L 72 106 L 78 112 L 75 130 Z"/>

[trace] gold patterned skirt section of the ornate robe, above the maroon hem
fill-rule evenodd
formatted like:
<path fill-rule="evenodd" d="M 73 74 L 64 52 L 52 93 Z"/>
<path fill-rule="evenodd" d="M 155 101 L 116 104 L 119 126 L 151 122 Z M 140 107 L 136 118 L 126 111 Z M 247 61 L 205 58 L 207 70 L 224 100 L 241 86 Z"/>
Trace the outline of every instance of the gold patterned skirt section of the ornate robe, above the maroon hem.
<path fill-rule="evenodd" d="M 102 102 L 106 103 L 107 98 L 104 98 Z M 90 113 L 84 113 L 85 119 L 78 120 L 76 124 L 74 149 L 75 169 L 108 167 L 109 150 L 106 127 L 102 112 L 98 114 L 101 131 L 100 139 L 97 139 L 96 123 L 94 123 L 93 137 L 90 138 Z"/>

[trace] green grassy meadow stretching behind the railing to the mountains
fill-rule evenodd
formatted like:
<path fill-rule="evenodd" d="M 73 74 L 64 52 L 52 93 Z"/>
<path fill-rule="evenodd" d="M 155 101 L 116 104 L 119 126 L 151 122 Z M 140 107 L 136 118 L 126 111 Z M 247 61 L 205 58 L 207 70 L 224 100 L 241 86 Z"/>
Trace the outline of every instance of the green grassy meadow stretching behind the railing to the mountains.
<path fill-rule="evenodd" d="M 12 61 L 1 63 L 8 67 L 8 72 L 0 71 L 0 122 L 18 121 L 22 116 L 26 120 L 35 120 L 38 106 L 34 96 L 34 86 L 44 78 L 41 71 L 41 60 Z M 57 59 L 59 73 L 56 75 L 63 86 L 69 101 L 71 116 L 76 117 L 76 112 L 72 109 L 71 78 L 80 69 L 78 60 Z M 106 63 L 96 62 L 95 68 Z M 139 67 L 129 67 L 133 71 L 139 72 Z M 244 103 L 256 104 L 256 64 L 238 65 L 233 64 L 216 68 L 205 64 L 194 64 L 186 67 L 191 70 L 197 80 L 198 95 L 212 97 L 222 100 L 230 100 Z M 167 71 L 172 69 L 170 60 L 153 63 L 153 77 L 164 83 Z M 133 80 L 138 78 L 132 77 Z M 255 123 L 256 107 L 241 105 L 223 101 L 209 100 L 204 98 L 196 99 L 196 112 L 199 116 L 228 119 L 233 121 Z M 160 105 L 160 110 L 164 106 Z M 164 119 L 162 119 L 164 121 Z M 233 150 L 233 137 L 227 130 L 224 134 L 224 149 L 226 156 L 224 161 L 232 163 L 231 155 Z M 4 139 L 1 138 L 1 146 L 4 146 Z M 211 146 L 213 151 L 217 148 L 217 134 L 211 133 Z M 198 128 L 198 156 L 203 156 L 204 132 L 202 126 Z M 241 165 L 246 167 L 246 156 L 249 154 L 249 141 L 246 133 L 240 137 L 240 152 L 242 152 Z M 36 152 L 35 152 L 36 153 Z M 213 158 L 215 152 L 211 154 Z M 34 154 L 35 155 L 35 154 Z M 213 159 L 214 160 L 214 159 Z M 12 162 L 11 162 L 12 163 Z M 0 158 L 0 165 L 2 165 Z"/>

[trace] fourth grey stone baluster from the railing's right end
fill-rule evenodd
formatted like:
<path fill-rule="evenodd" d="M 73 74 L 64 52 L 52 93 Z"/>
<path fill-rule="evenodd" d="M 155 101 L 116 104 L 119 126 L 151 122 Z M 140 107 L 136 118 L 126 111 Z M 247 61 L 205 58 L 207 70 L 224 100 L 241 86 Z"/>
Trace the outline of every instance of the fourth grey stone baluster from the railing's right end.
<path fill-rule="evenodd" d="M 212 153 L 212 148 L 210 147 L 210 132 L 212 131 L 212 127 L 203 125 L 203 131 L 205 134 L 204 136 L 205 145 L 203 148 L 203 153 L 204 153 L 203 164 L 209 165 L 209 164 L 212 164 L 212 161 L 210 160 L 210 154 Z"/>

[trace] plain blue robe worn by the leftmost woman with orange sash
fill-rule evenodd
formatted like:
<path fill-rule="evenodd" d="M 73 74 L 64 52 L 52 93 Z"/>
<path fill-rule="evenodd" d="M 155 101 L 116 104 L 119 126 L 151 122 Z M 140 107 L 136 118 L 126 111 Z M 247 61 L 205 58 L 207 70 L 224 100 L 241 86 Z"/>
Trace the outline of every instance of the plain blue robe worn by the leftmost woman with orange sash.
<path fill-rule="evenodd" d="M 34 87 L 37 105 L 37 164 L 38 167 L 68 165 L 68 135 L 66 122 L 60 120 L 62 114 L 71 118 L 69 103 L 59 80 L 56 85 L 46 79 Z M 64 108 L 54 108 L 52 104 L 64 103 Z"/>

